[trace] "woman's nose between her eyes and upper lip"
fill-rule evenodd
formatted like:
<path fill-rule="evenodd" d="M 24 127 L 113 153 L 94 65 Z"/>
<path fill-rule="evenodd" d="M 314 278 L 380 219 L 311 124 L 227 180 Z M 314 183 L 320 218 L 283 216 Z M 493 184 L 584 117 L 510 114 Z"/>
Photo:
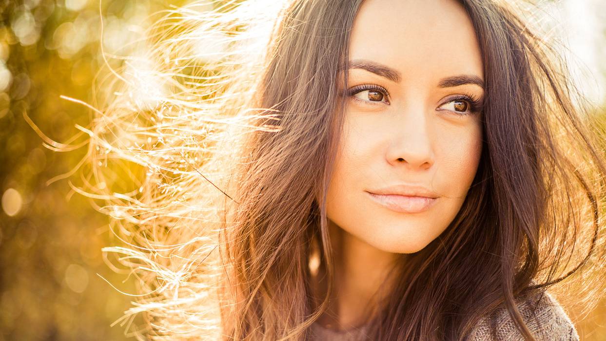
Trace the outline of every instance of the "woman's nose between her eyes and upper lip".
<path fill-rule="evenodd" d="M 387 161 L 394 167 L 427 170 L 435 162 L 433 137 L 421 106 L 398 110 L 397 122 L 388 127 Z"/>

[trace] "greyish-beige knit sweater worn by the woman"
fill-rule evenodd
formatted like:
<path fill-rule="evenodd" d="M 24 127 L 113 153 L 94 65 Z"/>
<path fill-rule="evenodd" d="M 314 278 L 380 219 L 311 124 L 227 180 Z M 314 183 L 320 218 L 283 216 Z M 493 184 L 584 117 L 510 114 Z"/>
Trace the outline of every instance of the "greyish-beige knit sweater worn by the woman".
<path fill-rule="evenodd" d="M 538 297 L 536 297 L 538 298 Z M 574 323 L 571 322 L 562 306 L 549 293 L 534 305 L 536 299 L 518 300 L 518 310 L 522 314 L 528 329 L 534 334 L 536 340 L 569 341 L 579 340 Z M 534 316 L 532 314 L 533 308 Z M 333 330 L 325 328 L 319 323 L 311 326 L 311 340 L 351 341 L 367 340 L 365 334 L 368 326 L 347 330 Z M 524 340 L 509 317 L 507 308 L 502 306 L 491 317 L 484 317 L 474 328 L 468 338 L 470 341 L 484 340 Z"/>

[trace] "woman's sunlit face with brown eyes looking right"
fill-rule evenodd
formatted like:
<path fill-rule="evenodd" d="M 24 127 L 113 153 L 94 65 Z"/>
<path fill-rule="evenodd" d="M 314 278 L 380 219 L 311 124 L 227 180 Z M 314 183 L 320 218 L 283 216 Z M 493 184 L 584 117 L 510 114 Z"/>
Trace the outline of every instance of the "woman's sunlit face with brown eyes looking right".
<path fill-rule="evenodd" d="M 366 0 L 350 41 L 330 223 L 414 253 L 448 227 L 482 149 L 478 41 L 454 0 Z"/>

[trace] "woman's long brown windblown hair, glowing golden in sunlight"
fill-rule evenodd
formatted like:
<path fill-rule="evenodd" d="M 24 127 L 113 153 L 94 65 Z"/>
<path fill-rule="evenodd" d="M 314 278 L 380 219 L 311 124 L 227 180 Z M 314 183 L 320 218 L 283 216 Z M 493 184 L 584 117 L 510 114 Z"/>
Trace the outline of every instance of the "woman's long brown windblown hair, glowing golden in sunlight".
<path fill-rule="evenodd" d="M 141 313 L 139 339 L 308 337 L 332 290 L 325 201 L 360 4 L 190 4 L 156 21 L 124 71 L 112 69 L 101 86 L 112 90 L 82 128 L 77 190 L 104 200 L 125 242 L 104 251 L 136 276 L 120 321 Z M 465 339 L 503 305 L 533 340 L 522 294 L 576 283 L 574 299 L 590 309 L 605 293 L 594 119 L 559 51 L 516 8 L 461 4 L 484 62 L 479 168 L 444 233 L 394 269 L 369 316 L 373 340 Z M 326 297 L 310 290 L 314 260 L 328 270 Z"/>

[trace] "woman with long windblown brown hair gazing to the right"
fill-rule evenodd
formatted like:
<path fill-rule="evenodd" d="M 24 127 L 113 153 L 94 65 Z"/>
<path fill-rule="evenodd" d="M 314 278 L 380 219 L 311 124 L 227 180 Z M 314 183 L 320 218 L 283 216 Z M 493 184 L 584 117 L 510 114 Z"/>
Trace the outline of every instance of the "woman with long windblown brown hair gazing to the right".
<path fill-rule="evenodd" d="M 606 168 L 553 48 L 496 0 L 264 4 L 181 8 L 112 70 L 89 156 L 130 246 L 105 251 L 141 286 L 125 318 L 154 339 L 578 339 L 546 290 L 583 271 L 604 292 Z"/>

